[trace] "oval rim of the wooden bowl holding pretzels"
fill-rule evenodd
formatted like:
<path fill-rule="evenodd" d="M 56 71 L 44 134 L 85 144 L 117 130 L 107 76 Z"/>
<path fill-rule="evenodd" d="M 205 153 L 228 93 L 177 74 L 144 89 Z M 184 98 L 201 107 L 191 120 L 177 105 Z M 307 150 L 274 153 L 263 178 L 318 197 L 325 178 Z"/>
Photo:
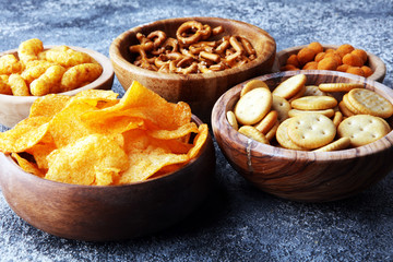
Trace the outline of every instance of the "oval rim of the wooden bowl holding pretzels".
<path fill-rule="evenodd" d="M 225 22 L 230 22 L 231 24 L 235 24 L 237 26 L 246 26 L 246 27 L 251 27 L 253 28 L 253 31 L 260 33 L 261 35 L 264 35 L 265 37 L 270 38 L 272 40 L 272 43 L 274 44 L 274 51 L 272 53 L 270 53 L 270 56 L 258 56 L 257 59 L 246 63 L 242 67 L 237 67 L 237 68 L 231 68 L 231 69 L 226 69 L 223 71 L 217 71 L 217 72 L 207 72 L 207 73 L 198 73 L 198 74 L 176 74 L 176 73 L 163 73 L 163 72 L 156 72 L 156 71 L 152 71 L 148 69 L 143 69 L 140 68 L 138 66 L 132 64 L 131 62 L 129 62 L 126 58 L 123 58 L 119 51 L 119 46 L 121 45 L 121 43 L 132 33 L 138 33 L 140 32 L 142 28 L 144 27 L 151 27 L 154 26 L 156 24 L 164 24 L 164 23 L 181 23 L 181 22 L 186 22 L 186 21 L 190 21 L 190 20 L 199 20 L 199 21 L 205 21 L 206 23 L 209 21 L 225 21 Z M 218 17 L 218 16 L 187 16 L 187 17 L 172 17 L 172 19 L 164 19 L 164 20 L 157 20 L 157 21 L 153 21 L 153 22 L 148 22 L 148 23 L 144 23 L 138 26 L 134 26 L 128 31 L 124 31 L 123 33 L 121 33 L 120 35 L 118 35 L 112 43 L 109 46 L 109 57 L 110 60 L 114 62 L 114 59 L 116 59 L 117 63 L 119 63 L 119 66 L 123 69 L 127 69 L 128 71 L 133 71 L 136 74 L 140 74 L 142 76 L 145 78 L 159 78 L 163 80 L 187 80 L 187 81 L 193 81 L 193 80 L 211 80 L 211 79 L 216 79 L 216 78 L 222 78 L 222 76 L 226 76 L 229 74 L 235 74 L 237 72 L 242 72 L 246 71 L 250 68 L 254 68 L 260 63 L 263 63 L 265 61 L 267 61 L 271 56 L 275 56 L 276 52 L 276 43 L 274 40 L 274 38 L 264 29 L 258 27 L 257 25 L 253 24 L 249 24 L 242 21 L 238 21 L 238 20 L 231 20 L 231 19 L 224 19 L 224 17 Z"/>

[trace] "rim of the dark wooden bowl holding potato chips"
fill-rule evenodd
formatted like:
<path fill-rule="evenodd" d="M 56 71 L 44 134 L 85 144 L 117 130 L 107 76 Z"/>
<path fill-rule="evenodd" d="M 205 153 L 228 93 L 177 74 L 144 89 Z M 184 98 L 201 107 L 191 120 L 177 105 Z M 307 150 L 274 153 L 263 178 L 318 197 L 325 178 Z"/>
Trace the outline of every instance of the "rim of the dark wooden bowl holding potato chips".
<path fill-rule="evenodd" d="M 191 120 L 194 121 L 198 126 L 202 124 L 202 120 L 199 119 L 195 115 L 192 115 Z M 66 187 L 68 189 L 83 189 L 83 190 L 111 190 L 114 188 L 119 188 L 119 189 L 126 189 L 129 187 L 142 187 L 146 183 L 152 183 L 152 182 L 159 182 L 160 180 L 166 180 L 166 179 L 170 179 L 174 176 L 181 176 L 182 172 L 187 172 L 188 169 L 190 169 L 192 166 L 194 165 L 199 165 L 201 164 L 201 155 L 203 154 L 207 154 L 209 151 L 209 143 L 211 143 L 212 136 L 210 133 L 207 133 L 207 139 L 205 141 L 205 143 L 203 144 L 203 146 L 201 147 L 201 151 L 199 152 L 198 156 L 194 157 L 193 159 L 191 159 L 189 163 L 187 163 L 184 166 L 182 166 L 180 169 L 171 171 L 171 172 L 167 172 L 165 175 L 162 175 L 159 177 L 155 177 L 155 178 L 150 178 L 143 181 L 136 181 L 136 182 L 132 182 L 132 183 L 124 183 L 124 184 L 110 184 L 110 186 L 95 186 L 95 184 L 76 184 L 76 183 L 66 183 L 66 182 L 59 182 L 59 181 L 53 181 L 53 180 L 49 180 L 49 179 L 45 179 L 45 178 L 40 178 L 36 175 L 33 175 L 31 172 L 26 172 L 25 170 L 23 170 L 15 160 L 12 159 L 11 154 L 4 154 L 2 152 L 0 152 L 0 162 L 1 159 L 7 160 L 9 163 L 10 166 L 12 166 L 14 171 L 17 171 L 20 175 L 22 176 L 26 176 L 26 179 L 33 180 L 33 181 L 37 181 L 40 183 L 48 183 L 48 187 L 50 184 L 56 184 L 56 186 L 61 186 L 61 187 Z M 180 172 L 181 171 L 181 172 Z M 1 182 L 0 182 L 1 184 Z M 1 189 L 1 187 L 0 187 Z"/>

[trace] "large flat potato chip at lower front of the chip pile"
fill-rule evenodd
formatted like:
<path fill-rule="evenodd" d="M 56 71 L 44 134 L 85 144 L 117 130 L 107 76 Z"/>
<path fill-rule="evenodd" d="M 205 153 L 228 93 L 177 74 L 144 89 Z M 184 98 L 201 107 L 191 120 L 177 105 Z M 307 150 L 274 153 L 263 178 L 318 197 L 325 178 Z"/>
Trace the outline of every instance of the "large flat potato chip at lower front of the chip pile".
<path fill-rule="evenodd" d="M 55 150 L 47 158 L 49 169 L 45 178 L 67 183 L 94 184 L 96 170 L 103 176 L 106 168 L 120 172 L 129 167 L 128 156 L 118 142 L 102 134 L 81 138 Z"/>

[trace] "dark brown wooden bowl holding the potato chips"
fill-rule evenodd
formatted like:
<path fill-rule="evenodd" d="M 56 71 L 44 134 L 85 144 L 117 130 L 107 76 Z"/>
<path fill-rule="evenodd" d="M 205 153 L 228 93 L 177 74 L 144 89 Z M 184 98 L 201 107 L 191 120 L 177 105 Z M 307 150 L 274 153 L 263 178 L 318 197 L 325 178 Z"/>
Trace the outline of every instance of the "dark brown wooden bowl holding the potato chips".
<path fill-rule="evenodd" d="M 0 165 L 2 193 L 28 224 L 63 238 L 105 241 L 150 235 L 189 215 L 213 188 L 215 153 L 209 136 L 200 156 L 178 171 L 126 186 L 46 180 L 2 153 Z"/>

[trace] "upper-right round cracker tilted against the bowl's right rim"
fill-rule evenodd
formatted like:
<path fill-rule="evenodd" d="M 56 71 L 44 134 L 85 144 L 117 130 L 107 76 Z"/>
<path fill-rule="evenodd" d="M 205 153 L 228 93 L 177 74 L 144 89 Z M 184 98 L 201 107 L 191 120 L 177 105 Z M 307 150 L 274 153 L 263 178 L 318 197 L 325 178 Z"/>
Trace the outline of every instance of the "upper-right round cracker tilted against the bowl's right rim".
<path fill-rule="evenodd" d="M 389 118 L 393 115 L 392 103 L 370 90 L 352 90 L 348 92 L 348 100 L 359 114 L 367 114 L 381 118 Z"/>

